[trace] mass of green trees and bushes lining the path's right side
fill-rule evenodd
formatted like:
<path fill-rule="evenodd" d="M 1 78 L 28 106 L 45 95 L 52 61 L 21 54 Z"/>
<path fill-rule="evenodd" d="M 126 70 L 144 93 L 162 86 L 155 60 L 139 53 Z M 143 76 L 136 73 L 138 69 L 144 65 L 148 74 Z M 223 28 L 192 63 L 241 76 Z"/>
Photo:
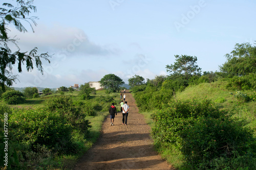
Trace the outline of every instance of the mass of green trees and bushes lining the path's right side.
<path fill-rule="evenodd" d="M 255 169 L 255 130 L 242 127 L 232 110 L 220 110 L 210 100 L 177 100 L 176 93 L 200 83 L 225 81 L 237 91 L 238 105 L 255 102 L 256 46 L 236 44 L 226 55 L 220 71 L 206 71 L 196 65 L 197 57 L 176 55 L 166 65 L 168 76 L 146 80 L 135 75 L 129 85 L 140 111 L 153 112 L 152 138 L 160 153 L 180 169 Z M 245 92 L 246 90 L 246 92 Z M 255 115 L 254 115 L 255 116 Z"/>

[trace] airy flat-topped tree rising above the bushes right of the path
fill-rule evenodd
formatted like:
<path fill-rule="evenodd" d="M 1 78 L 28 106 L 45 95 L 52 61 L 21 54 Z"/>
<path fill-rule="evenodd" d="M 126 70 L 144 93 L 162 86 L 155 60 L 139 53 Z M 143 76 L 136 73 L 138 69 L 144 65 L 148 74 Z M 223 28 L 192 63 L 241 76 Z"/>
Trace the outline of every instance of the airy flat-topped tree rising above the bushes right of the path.
<path fill-rule="evenodd" d="M 184 75 L 187 81 L 193 75 L 200 75 L 202 68 L 196 65 L 196 56 L 175 55 L 175 58 L 174 64 L 166 65 L 167 72 L 173 72 L 174 75 Z"/>

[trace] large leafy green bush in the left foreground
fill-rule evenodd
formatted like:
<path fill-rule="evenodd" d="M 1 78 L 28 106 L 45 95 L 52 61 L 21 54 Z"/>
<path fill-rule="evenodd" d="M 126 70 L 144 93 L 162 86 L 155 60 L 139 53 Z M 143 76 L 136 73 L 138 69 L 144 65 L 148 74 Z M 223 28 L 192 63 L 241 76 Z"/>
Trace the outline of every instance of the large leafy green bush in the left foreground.
<path fill-rule="evenodd" d="M 45 108 L 14 109 L 9 122 L 19 143 L 32 149 L 40 144 L 56 153 L 76 151 L 71 136 L 73 126 L 57 111 Z"/>

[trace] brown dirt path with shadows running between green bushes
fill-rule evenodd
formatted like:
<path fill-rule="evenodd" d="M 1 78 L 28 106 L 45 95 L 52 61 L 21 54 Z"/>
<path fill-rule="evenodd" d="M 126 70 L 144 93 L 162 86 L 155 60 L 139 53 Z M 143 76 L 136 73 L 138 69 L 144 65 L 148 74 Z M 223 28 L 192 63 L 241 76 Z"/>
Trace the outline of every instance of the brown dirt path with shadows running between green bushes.
<path fill-rule="evenodd" d="M 127 126 L 122 125 L 122 113 L 117 113 L 114 126 L 110 116 L 102 126 L 98 142 L 79 161 L 75 169 L 174 169 L 153 149 L 151 128 L 145 123 L 131 93 L 126 101 L 130 107 Z M 119 107 L 119 106 L 117 106 Z"/>

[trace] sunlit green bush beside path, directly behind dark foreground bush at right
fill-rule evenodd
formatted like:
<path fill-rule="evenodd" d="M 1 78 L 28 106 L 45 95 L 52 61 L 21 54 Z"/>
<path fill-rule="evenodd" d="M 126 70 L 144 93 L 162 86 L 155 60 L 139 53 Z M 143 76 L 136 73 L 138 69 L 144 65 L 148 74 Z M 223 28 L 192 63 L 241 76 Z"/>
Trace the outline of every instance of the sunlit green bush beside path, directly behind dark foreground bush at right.
<path fill-rule="evenodd" d="M 201 102 L 197 100 L 172 101 L 152 114 L 152 119 L 155 122 L 152 128 L 152 135 L 156 145 L 161 145 L 162 142 L 175 144 L 178 140 L 179 132 L 186 125 L 185 120 L 187 118 L 197 118 L 199 116 L 218 118 L 223 114 L 226 114 L 226 112 L 219 111 L 210 100 Z"/>

